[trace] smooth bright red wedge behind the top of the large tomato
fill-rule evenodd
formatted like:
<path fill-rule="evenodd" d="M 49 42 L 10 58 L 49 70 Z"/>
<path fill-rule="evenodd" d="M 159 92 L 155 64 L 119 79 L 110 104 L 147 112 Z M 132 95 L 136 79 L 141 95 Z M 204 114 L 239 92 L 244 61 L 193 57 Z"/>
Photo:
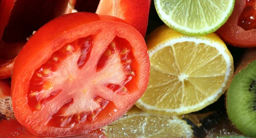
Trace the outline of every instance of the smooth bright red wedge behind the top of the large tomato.
<path fill-rule="evenodd" d="M 151 0 L 100 0 L 96 14 L 119 17 L 145 37 Z"/>

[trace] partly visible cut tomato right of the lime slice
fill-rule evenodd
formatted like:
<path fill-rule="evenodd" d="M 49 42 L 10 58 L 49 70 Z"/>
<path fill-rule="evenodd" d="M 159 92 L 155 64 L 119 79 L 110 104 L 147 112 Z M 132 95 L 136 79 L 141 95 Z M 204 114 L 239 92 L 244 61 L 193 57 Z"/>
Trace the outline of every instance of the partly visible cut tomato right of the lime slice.
<path fill-rule="evenodd" d="M 256 47 L 256 1 L 236 0 L 233 13 L 217 33 L 233 46 Z"/>

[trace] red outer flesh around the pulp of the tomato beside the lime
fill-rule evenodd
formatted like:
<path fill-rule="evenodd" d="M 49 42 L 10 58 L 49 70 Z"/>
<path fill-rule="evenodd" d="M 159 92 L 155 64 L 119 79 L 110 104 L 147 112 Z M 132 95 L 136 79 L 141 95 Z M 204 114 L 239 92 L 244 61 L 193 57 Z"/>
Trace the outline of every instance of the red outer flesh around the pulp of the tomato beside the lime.
<path fill-rule="evenodd" d="M 216 32 L 226 43 L 233 46 L 241 48 L 256 47 L 256 29 L 245 31 L 238 25 L 245 4 L 246 0 L 236 0 L 231 16 Z"/>

